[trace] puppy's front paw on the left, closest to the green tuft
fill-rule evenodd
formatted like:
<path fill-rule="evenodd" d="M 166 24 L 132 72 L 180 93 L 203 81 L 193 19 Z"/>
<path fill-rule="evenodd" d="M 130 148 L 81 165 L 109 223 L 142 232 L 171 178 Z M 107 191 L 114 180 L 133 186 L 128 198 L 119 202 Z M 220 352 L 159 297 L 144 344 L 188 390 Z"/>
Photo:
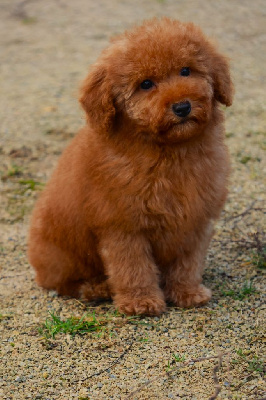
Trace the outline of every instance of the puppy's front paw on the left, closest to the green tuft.
<path fill-rule="evenodd" d="M 166 309 L 165 301 L 160 296 L 123 297 L 115 296 L 118 310 L 127 315 L 160 315 Z"/>

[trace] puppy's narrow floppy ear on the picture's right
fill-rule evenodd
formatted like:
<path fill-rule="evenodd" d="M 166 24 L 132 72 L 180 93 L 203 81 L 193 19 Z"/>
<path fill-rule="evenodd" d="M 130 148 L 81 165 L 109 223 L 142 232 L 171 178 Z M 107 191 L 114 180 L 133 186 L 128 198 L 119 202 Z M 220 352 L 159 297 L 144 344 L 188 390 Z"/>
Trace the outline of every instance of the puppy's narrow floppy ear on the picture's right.
<path fill-rule="evenodd" d="M 212 77 L 214 97 L 227 107 L 233 102 L 234 86 L 230 76 L 229 63 L 221 54 L 215 52 L 212 57 Z"/>

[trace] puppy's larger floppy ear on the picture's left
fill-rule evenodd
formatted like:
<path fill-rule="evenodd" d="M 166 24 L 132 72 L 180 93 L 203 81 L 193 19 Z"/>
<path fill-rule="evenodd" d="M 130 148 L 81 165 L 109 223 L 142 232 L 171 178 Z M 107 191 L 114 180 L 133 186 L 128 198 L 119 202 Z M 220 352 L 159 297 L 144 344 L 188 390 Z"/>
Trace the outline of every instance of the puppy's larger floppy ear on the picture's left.
<path fill-rule="evenodd" d="M 79 101 L 94 129 L 105 133 L 112 129 L 115 107 L 111 82 L 104 66 L 95 65 L 92 68 L 81 87 Z"/>

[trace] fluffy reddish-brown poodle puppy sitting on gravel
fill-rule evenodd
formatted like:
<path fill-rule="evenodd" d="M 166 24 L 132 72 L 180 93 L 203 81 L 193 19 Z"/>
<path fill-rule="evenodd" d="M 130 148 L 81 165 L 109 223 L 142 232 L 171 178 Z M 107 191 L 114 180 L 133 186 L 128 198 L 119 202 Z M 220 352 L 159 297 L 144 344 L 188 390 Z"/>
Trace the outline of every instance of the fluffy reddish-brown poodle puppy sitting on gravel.
<path fill-rule="evenodd" d="M 232 91 L 226 58 L 192 23 L 153 19 L 114 39 L 82 88 L 88 123 L 33 213 L 37 283 L 112 297 L 126 314 L 207 302 L 229 171 L 219 103 Z"/>

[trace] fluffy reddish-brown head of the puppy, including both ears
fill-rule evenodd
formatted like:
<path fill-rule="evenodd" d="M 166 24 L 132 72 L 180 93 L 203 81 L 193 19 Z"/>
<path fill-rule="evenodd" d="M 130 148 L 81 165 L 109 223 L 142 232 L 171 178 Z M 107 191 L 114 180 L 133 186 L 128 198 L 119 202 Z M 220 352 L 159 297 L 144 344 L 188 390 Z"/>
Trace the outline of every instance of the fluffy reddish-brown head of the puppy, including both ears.
<path fill-rule="evenodd" d="M 232 103 L 227 59 L 192 23 L 163 18 L 113 40 L 81 95 L 90 124 L 107 134 L 133 126 L 163 143 L 202 132 L 220 102 Z"/>

